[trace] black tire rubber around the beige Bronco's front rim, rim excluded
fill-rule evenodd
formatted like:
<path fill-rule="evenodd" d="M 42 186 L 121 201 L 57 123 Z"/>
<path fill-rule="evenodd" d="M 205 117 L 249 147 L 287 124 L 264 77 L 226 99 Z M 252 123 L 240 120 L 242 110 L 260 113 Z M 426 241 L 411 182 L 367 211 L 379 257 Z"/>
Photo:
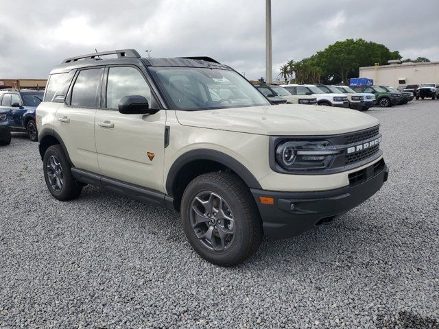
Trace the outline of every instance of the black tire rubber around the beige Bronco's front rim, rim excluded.
<path fill-rule="evenodd" d="M 192 205 L 197 195 L 209 191 L 222 197 L 233 213 L 235 234 L 224 251 L 209 249 L 198 239 L 192 225 Z M 210 214 L 209 214 L 210 215 Z M 194 178 L 182 196 L 181 218 L 191 246 L 202 258 L 215 265 L 231 267 L 254 254 L 263 237 L 261 216 L 246 184 L 233 173 L 204 173 Z"/>

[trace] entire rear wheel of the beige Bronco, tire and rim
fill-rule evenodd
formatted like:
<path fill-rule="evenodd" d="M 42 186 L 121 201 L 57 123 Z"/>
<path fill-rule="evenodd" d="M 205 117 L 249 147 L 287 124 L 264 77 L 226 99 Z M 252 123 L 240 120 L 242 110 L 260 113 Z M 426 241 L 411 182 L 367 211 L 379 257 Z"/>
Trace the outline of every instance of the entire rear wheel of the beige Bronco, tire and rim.
<path fill-rule="evenodd" d="M 43 157 L 43 171 L 47 188 L 60 201 L 76 199 L 82 191 L 71 175 L 71 165 L 60 145 L 52 145 Z"/>

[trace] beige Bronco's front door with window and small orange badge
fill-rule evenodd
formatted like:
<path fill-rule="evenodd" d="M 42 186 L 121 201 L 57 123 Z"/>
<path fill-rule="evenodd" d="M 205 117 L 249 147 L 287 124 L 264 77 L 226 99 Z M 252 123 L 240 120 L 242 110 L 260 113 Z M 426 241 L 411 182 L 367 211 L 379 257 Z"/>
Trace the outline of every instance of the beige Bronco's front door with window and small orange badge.
<path fill-rule="evenodd" d="M 166 111 L 121 114 L 119 101 L 139 95 L 151 101 L 150 86 L 136 66 L 110 66 L 104 108 L 95 117 L 95 141 L 102 175 L 163 191 Z M 105 79 L 105 78 L 104 78 Z"/>

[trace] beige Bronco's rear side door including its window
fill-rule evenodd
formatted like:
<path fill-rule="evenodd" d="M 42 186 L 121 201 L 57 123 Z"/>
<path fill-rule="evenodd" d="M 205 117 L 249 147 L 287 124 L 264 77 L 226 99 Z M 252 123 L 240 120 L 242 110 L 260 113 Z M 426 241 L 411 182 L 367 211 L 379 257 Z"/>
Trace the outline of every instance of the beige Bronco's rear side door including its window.
<path fill-rule="evenodd" d="M 102 67 L 78 70 L 54 121 L 54 130 L 64 142 L 73 165 L 93 173 L 99 172 L 94 124 L 103 75 Z M 54 93 L 52 101 L 57 97 Z"/>

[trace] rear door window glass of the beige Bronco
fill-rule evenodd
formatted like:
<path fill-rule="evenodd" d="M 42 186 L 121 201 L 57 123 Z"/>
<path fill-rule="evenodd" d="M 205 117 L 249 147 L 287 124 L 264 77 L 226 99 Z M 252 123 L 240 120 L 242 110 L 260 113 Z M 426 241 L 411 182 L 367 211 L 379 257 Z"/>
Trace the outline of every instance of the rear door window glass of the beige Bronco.
<path fill-rule="evenodd" d="M 76 78 L 71 93 L 71 106 L 95 108 L 102 69 L 82 70 Z"/>

